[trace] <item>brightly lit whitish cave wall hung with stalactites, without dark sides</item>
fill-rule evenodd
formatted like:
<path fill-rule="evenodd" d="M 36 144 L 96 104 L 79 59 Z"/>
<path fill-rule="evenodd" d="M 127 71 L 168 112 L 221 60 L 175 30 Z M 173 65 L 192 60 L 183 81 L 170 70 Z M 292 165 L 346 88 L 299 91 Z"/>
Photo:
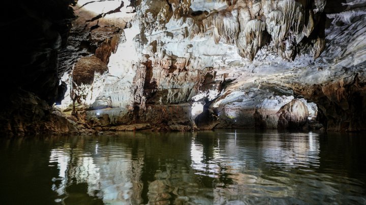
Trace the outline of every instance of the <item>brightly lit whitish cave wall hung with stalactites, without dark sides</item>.
<path fill-rule="evenodd" d="M 354 1 L 146 1 L 135 6 L 135 20 L 118 45 L 124 49 L 111 55 L 112 71 L 93 105 L 123 110 L 116 124 L 148 123 L 148 107 L 204 104 L 207 98 L 213 124 L 201 129 L 275 129 L 281 106 L 299 95 L 323 109 L 325 124 L 329 108 L 300 91 L 364 70 L 364 5 Z M 273 99 L 275 107 L 267 103 Z M 190 126 L 192 118 L 180 121 Z"/>

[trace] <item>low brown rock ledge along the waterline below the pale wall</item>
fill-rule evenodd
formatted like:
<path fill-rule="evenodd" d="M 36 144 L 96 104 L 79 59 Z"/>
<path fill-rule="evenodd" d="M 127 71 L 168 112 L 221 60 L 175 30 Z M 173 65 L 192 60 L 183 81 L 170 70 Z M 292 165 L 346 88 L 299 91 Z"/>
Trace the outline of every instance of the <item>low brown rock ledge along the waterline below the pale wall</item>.
<path fill-rule="evenodd" d="M 107 108 L 87 111 L 90 127 L 104 131 L 189 131 L 194 127 L 191 104 L 147 105 L 146 110 Z"/>

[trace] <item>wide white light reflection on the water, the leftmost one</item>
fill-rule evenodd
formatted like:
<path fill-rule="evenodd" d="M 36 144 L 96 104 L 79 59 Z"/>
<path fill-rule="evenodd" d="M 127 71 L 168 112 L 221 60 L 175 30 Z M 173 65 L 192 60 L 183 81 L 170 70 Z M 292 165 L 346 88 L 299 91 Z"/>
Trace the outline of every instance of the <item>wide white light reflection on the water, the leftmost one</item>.
<path fill-rule="evenodd" d="M 52 190 L 63 199 L 70 197 L 67 187 L 71 184 L 87 184 L 87 194 L 103 199 L 105 203 L 141 202 L 140 179 L 143 158 L 131 160 L 131 155 L 119 147 L 100 150 L 96 144 L 94 153 L 80 149 L 56 148 L 51 150 L 50 163 L 57 163 L 58 178 L 53 178 Z M 104 147 L 105 148 L 105 147 Z M 113 152 L 113 150 L 118 150 Z M 57 201 L 63 199 L 56 199 Z"/>

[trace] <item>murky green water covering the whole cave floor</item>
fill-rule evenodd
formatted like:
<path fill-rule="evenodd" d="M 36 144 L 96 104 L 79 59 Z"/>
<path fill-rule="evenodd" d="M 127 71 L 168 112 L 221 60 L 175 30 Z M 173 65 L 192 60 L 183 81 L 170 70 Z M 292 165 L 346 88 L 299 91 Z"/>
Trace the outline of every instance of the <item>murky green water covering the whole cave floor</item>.
<path fill-rule="evenodd" d="M 363 135 L 7 138 L 0 165 L 0 204 L 366 204 Z"/>

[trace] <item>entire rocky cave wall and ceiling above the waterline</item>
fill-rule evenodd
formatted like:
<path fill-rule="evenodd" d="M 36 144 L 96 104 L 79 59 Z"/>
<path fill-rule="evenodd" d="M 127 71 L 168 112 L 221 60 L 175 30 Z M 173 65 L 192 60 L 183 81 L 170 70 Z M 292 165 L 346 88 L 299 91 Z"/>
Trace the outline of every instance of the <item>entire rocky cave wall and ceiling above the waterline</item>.
<path fill-rule="evenodd" d="M 48 105 L 70 98 L 69 76 L 85 72 L 84 86 L 73 77 L 86 105 L 76 109 L 75 120 L 85 122 L 79 130 L 320 128 L 310 126 L 314 120 L 328 131 L 366 129 L 361 1 L 80 0 L 59 1 L 43 16 L 31 3 L 17 4 L 21 17 L 32 17 L 15 20 L 33 25 L 25 42 L 33 49 L 12 66 L 18 70 L 6 69 L 16 79 L 3 82 L 11 88 L 7 109 L 13 96 L 32 95 L 50 116 Z M 66 101 L 60 110 L 70 111 Z M 19 124 L 37 116 L 10 110 L 1 118 L 7 133 L 22 133 Z"/>

